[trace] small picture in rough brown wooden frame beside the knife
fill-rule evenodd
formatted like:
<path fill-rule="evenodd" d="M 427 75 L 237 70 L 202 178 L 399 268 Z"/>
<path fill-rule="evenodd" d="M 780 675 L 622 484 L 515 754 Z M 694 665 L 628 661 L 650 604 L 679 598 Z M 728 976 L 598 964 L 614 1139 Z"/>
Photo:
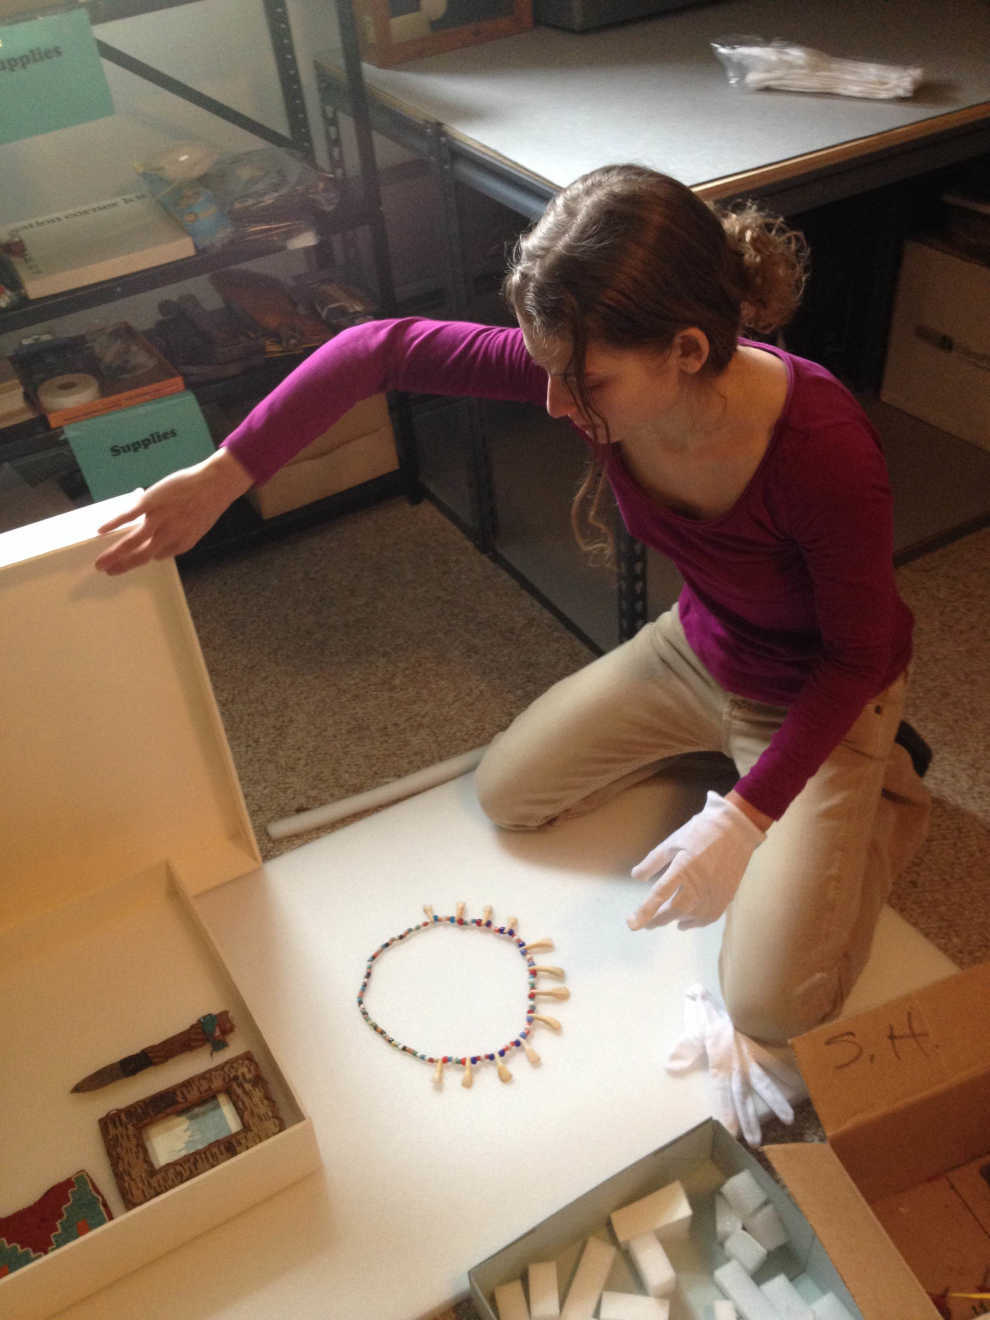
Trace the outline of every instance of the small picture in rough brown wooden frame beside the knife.
<path fill-rule="evenodd" d="M 252 1053 L 100 1118 L 110 1167 L 129 1210 L 275 1137 L 282 1126 Z"/>

